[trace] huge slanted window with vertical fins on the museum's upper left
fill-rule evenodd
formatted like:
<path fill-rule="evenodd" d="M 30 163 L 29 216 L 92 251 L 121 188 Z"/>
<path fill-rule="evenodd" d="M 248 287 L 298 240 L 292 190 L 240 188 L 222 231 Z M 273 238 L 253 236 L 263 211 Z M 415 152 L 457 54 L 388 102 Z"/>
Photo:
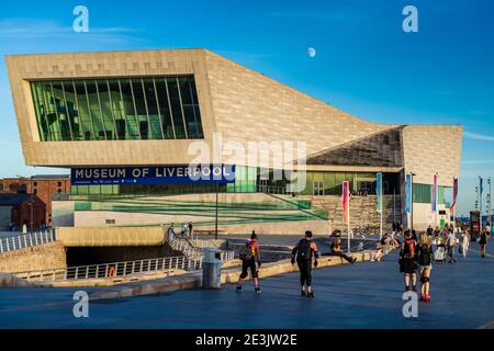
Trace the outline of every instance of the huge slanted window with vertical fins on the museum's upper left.
<path fill-rule="evenodd" d="M 203 138 L 193 76 L 32 81 L 40 138 Z"/>

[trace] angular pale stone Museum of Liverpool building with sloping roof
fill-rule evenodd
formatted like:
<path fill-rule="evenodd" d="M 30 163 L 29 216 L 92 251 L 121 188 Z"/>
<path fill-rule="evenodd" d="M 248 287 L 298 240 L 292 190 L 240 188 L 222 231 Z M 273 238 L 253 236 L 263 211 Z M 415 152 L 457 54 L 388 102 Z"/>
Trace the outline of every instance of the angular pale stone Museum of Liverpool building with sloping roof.
<path fill-rule="evenodd" d="M 70 192 L 54 197 L 54 226 L 191 220 L 210 230 L 217 211 L 225 233 L 326 234 L 345 227 L 341 183 L 349 181 L 351 227 L 375 227 L 378 173 L 385 227 L 450 219 L 460 126 L 367 122 L 206 49 L 15 55 L 7 63 L 26 165 L 71 173 Z M 281 157 L 271 143 L 303 145 L 304 155 Z M 220 144 L 229 151 L 212 159 Z M 267 162 L 232 152 L 252 145 Z M 211 152 L 197 152 L 203 146 Z"/>

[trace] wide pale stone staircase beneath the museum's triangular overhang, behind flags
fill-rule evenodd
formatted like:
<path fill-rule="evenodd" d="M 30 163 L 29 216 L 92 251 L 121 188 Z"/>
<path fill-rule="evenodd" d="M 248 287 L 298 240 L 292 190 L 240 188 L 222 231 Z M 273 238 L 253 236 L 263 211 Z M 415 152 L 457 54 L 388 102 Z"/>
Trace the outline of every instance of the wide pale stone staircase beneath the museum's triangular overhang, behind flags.
<path fill-rule="evenodd" d="M 394 199 L 393 199 L 394 197 Z M 343 219 L 341 196 L 302 196 L 311 200 L 314 207 L 324 208 L 328 212 L 329 223 L 333 229 L 347 229 Z M 379 231 L 380 214 L 377 212 L 378 199 L 375 195 L 350 197 L 350 228 L 369 227 L 371 231 Z M 393 220 L 402 220 L 402 208 L 400 196 L 383 196 L 383 229 L 391 230 Z M 394 211 L 394 215 L 393 215 Z"/>

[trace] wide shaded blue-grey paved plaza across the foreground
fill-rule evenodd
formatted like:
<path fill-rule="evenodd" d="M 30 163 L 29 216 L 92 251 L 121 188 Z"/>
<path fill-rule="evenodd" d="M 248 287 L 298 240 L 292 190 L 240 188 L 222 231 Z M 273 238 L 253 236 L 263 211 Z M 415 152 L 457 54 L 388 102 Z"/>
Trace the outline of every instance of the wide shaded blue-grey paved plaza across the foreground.
<path fill-rule="evenodd" d="M 393 253 L 381 263 L 316 270 L 315 299 L 300 298 L 290 273 L 262 280 L 261 295 L 246 282 L 240 295 L 224 285 L 91 302 L 89 318 L 75 318 L 72 288 L 2 288 L 0 328 L 480 328 L 494 321 L 494 245 L 484 260 L 478 249 L 472 242 L 467 260 L 434 265 L 433 303 L 419 304 L 418 318 L 402 315 Z"/>

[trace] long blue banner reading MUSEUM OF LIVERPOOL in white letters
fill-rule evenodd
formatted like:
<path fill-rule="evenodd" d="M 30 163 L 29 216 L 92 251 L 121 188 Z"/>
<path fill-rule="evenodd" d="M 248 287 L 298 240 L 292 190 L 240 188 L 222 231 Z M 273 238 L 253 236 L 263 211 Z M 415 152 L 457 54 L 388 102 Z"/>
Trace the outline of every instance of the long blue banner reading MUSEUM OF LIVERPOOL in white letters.
<path fill-rule="evenodd" d="M 72 185 L 226 184 L 235 182 L 234 165 L 72 168 Z"/>

